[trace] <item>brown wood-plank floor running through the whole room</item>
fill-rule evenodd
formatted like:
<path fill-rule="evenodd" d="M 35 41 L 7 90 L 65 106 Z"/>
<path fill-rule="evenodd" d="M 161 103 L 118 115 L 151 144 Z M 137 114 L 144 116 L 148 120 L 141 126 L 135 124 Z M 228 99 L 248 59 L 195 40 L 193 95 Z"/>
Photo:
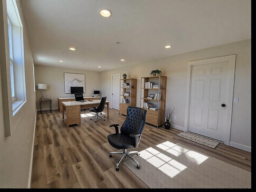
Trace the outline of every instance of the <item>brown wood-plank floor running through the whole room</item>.
<path fill-rule="evenodd" d="M 117 151 L 108 144 L 107 135 L 115 132 L 109 125 L 122 125 L 126 116 L 110 109 L 109 119 L 94 122 L 88 114 L 81 112 L 81 126 L 76 124 L 66 128 L 62 113 L 58 110 L 37 113 L 30 188 L 148 188 L 122 163 L 129 158 L 124 159 L 119 171 L 116 171 L 120 156 L 109 157 L 109 152 Z M 250 152 L 222 143 L 215 149 L 208 148 L 176 136 L 179 132 L 174 128 L 166 130 L 161 126 L 157 129 L 146 124 L 136 150 L 141 151 L 165 141 L 179 142 L 251 172 Z"/>

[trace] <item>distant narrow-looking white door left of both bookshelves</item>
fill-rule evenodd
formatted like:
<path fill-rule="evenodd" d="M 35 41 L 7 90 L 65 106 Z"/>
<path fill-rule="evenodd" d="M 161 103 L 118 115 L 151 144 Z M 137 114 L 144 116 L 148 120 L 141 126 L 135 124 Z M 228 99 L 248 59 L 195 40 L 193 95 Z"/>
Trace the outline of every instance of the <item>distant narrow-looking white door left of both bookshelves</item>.
<path fill-rule="evenodd" d="M 111 103 L 112 108 L 117 110 L 119 110 L 120 103 L 120 77 L 120 73 L 111 75 Z"/>

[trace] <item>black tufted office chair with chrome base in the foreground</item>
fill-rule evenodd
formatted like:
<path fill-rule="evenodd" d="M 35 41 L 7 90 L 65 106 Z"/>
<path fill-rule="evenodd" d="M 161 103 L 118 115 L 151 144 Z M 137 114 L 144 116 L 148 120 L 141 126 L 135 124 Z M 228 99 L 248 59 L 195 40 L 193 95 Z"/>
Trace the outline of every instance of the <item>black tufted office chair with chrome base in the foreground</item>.
<path fill-rule="evenodd" d="M 116 170 L 119 170 L 119 164 L 123 158 L 129 157 L 134 162 L 137 163 L 137 168 L 140 169 L 139 162 L 130 156 L 131 153 L 136 153 L 139 156 L 138 151 L 127 151 L 130 148 L 137 148 L 140 143 L 140 138 L 144 125 L 146 122 L 146 110 L 139 107 L 127 107 L 127 116 L 120 128 L 120 133 L 118 130 L 119 124 L 112 124 L 110 127 L 114 127 L 116 133 L 108 135 L 109 144 L 116 148 L 122 149 L 123 152 L 110 152 L 109 156 L 112 157 L 112 154 L 122 154 L 116 163 Z"/>

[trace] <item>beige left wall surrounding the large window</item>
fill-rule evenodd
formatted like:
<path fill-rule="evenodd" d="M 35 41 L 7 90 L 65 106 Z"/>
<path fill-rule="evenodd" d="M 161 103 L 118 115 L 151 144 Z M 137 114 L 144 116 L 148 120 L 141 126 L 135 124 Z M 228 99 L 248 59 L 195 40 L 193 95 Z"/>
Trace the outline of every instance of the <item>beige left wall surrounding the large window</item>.
<path fill-rule="evenodd" d="M 7 26 L 6 1 L 0 0 L 0 188 L 28 188 L 28 184 L 30 183 L 30 168 L 32 166 L 32 146 L 36 119 L 33 59 L 20 1 L 17 1 L 17 6 L 20 10 L 24 34 L 26 103 L 14 116 L 12 116 L 12 108 L 10 107 L 10 109 L 6 109 L 3 107 L 4 104 L 12 106 L 12 103 L 6 96 L 3 96 L 7 91 L 10 93 L 10 84 L 8 84 L 8 90 L 6 88 L 2 89 L 2 83 L 10 83 L 10 75 L 8 77 L 3 75 L 6 75 L 6 71 L 2 71 L 2 66 L 6 65 L 8 69 L 10 68 L 8 67 L 10 64 L 9 59 L 6 62 L 4 56 L 4 54 L 6 54 L 7 58 L 9 58 L 9 51 L 5 51 L 5 44 L 8 44 L 8 35 L 7 38 L 4 39 L 4 42 L 2 41 L 2 34 L 8 33 L 7 28 L 3 28 L 3 23 Z M 4 127 L 3 117 L 8 111 L 10 111 L 11 136 L 5 137 L 4 130 L 7 127 Z"/>

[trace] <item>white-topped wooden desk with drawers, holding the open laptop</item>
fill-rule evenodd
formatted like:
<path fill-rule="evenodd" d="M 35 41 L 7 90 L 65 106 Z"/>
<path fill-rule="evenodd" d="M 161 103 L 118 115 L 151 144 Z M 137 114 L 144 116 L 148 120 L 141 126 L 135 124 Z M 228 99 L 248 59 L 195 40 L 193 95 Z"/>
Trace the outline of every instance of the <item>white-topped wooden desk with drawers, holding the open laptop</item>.
<path fill-rule="evenodd" d="M 86 102 L 78 101 L 66 101 L 62 102 L 62 121 L 65 122 L 67 128 L 72 124 L 81 125 L 80 112 L 81 109 L 90 108 L 91 106 L 98 105 L 101 100 L 93 100 Z M 107 105 L 107 118 L 109 119 L 109 101 L 106 101 Z M 64 112 L 66 111 L 66 118 Z"/>

